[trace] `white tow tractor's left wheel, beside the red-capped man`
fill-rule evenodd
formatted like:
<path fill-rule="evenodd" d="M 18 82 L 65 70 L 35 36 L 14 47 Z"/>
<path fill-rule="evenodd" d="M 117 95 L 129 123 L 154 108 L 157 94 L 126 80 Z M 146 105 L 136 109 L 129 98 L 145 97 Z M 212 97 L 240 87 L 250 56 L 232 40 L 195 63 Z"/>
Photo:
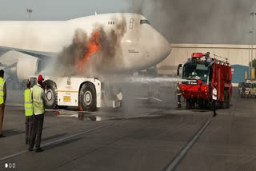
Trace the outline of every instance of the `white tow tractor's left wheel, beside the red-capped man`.
<path fill-rule="evenodd" d="M 58 91 L 57 85 L 54 82 L 46 82 L 46 109 L 57 109 L 58 107 Z"/>

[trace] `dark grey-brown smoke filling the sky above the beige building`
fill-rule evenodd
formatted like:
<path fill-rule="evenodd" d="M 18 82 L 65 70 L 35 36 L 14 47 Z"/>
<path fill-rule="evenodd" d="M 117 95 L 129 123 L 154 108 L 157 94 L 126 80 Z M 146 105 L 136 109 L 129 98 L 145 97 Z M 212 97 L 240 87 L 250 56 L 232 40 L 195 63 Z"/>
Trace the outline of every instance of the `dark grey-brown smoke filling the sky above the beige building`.
<path fill-rule="evenodd" d="M 253 1 L 133 0 L 128 3 L 130 12 L 145 15 L 172 43 L 250 44 Z"/>

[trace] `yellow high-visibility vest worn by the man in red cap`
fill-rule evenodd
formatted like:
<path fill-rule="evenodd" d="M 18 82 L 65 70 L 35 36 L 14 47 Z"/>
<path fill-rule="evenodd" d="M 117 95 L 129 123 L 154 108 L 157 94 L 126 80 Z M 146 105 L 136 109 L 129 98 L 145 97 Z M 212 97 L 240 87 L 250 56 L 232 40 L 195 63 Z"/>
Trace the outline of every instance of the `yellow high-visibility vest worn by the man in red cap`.
<path fill-rule="evenodd" d="M 45 113 L 44 104 L 42 100 L 43 89 L 38 85 L 34 85 L 32 92 L 34 113 Z"/>

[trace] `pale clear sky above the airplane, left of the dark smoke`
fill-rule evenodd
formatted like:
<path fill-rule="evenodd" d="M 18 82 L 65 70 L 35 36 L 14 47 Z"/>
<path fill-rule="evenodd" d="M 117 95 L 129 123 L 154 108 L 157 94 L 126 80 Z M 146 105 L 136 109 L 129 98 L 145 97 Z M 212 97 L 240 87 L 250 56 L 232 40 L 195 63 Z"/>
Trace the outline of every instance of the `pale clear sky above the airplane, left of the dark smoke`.
<path fill-rule="evenodd" d="M 0 0 L 0 20 L 27 20 L 32 8 L 34 20 L 66 20 L 97 13 L 122 12 L 126 0 Z"/>

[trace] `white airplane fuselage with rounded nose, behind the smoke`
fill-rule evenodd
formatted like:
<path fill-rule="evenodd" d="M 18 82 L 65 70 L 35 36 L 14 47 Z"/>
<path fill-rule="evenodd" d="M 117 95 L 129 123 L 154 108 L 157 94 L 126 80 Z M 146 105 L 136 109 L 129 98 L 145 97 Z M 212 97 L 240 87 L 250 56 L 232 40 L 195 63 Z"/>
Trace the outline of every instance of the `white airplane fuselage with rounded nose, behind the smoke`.
<path fill-rule="evenodd" d="M 74 43 L 78 30 L 90 38 L 102 29 L 115 48 L 113 70 L 141 70 L 170 54 L 170 43 L 139 14 L 99 14 L 69 21 L 0 22 L 0 46 L 59 53 Z M 117 39 L 117 40 L 115 40 Z M 109 55 L 109 54 L 103 54 Z M 1 57 L 0 57 L 1 58 Z M 102 57 L 104 58 L 104 57 Z"/>

